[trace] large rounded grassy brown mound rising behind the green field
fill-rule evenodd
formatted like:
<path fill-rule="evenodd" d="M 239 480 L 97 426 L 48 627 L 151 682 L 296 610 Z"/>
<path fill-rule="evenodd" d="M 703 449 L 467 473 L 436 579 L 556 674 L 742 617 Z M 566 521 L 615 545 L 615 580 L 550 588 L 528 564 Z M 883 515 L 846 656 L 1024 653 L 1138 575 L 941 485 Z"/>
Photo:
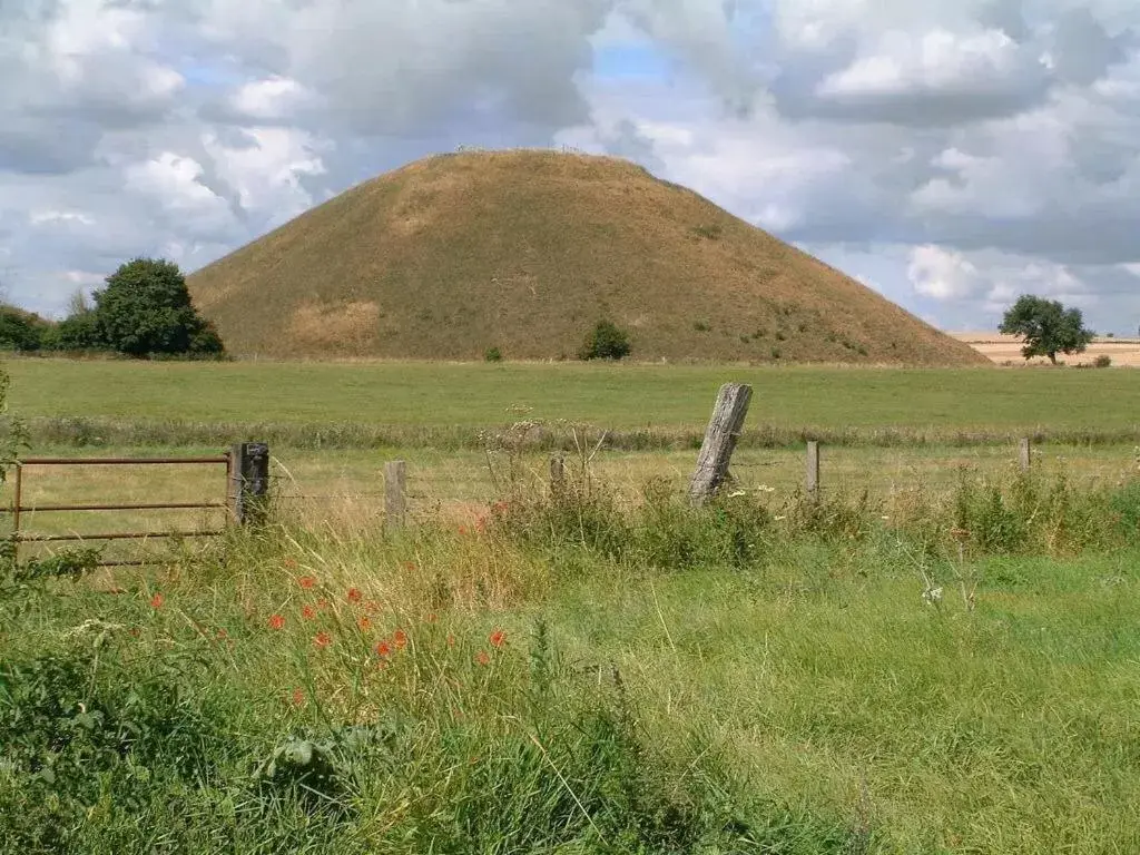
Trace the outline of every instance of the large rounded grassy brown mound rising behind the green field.
<path fill-rule="evenodd" d="M 986 361 L 691 190 L 554 152 L 418 161 L 188 285 L 236 355 L 573 358 L 605 318 L 638 360 Z"/>

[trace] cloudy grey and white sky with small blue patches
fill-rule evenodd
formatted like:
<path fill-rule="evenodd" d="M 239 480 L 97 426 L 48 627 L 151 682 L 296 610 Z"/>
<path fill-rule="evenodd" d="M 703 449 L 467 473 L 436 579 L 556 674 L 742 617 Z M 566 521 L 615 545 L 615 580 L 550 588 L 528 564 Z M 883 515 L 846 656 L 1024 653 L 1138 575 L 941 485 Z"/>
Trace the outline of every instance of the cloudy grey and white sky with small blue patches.
<path fill-rule="evenodd" d="M 1140 325 L 1137 0 L 0 0 L 0 283 L 50 314 L 456 147 L 656 174 L 944 327 Z"/>

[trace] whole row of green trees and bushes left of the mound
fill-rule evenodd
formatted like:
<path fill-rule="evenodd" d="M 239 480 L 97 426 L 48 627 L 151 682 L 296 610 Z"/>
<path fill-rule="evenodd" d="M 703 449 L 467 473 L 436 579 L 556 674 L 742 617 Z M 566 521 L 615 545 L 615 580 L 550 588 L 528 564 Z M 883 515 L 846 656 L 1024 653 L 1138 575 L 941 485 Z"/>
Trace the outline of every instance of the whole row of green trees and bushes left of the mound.
<path fill-rule="evenodd" d="M 0 349 L 112 352 L 138 359 L 215 359 L 226 352 L 213 324 L 194 308 L 178 266 L 146 258 L 122 264 L 90 299 L 78 294 L 59 321 L 0 304 Z"/>

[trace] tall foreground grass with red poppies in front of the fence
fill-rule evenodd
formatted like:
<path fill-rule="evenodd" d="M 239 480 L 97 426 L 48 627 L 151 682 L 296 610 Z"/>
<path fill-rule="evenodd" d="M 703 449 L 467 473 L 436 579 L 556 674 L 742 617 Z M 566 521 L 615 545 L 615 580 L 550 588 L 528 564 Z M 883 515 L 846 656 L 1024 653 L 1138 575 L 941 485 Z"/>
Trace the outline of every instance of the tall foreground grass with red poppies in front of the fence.
<path fill-rule="evenodd" d="M 1135 850 L 1134 483 L 499 483 L 9 568 L 0 852 Z"/>

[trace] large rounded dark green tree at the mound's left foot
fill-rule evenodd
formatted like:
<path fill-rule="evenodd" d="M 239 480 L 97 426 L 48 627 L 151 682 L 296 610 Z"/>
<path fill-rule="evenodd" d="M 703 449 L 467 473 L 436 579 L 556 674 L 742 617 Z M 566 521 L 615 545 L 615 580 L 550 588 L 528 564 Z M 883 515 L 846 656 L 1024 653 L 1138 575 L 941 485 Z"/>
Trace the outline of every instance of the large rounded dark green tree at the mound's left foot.
<path fill-rule="evenodd" d="M 132 357 L 222 352 L 217 331 L 197 314 L 186 278 L 170 261 L 128 261 L 93 299 L 93 324 L 111 350 Z"/>

